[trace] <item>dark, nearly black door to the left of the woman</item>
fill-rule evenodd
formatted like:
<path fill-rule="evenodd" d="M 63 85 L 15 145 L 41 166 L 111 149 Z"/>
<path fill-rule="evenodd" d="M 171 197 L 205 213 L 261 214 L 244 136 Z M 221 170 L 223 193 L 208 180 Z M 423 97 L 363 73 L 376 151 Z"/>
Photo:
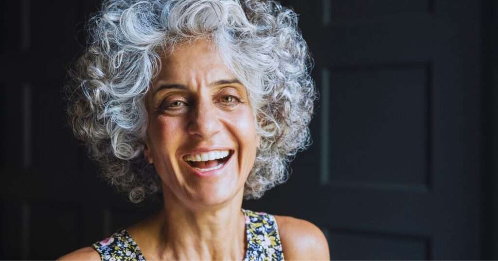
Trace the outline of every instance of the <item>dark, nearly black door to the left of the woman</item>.
<path fill-rule="evenodd" d="M 53 260 L 150 213 L 98 178 L 62 86 L 99 0 L 0 2 L 1 260 Z"/>

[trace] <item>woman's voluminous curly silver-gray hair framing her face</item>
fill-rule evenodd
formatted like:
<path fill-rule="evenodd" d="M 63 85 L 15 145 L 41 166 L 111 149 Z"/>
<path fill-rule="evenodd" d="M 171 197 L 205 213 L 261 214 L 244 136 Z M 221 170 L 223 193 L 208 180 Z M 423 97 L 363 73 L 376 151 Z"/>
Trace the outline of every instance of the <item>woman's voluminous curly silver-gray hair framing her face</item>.
<path fill-rule="evenodd" d="M 103 177 L 130 201 L 161 192 L 143 157 L 144 96 L 160 53 L 210 39 L 247 87 L 260 137 L 246 199 L 288 178 L 287 165 L 310 145 L 316 90 L 297 15 L 274 0 L 107 0 L 90 19 L 88 48 L 67 86 L 70 124 Z"/>

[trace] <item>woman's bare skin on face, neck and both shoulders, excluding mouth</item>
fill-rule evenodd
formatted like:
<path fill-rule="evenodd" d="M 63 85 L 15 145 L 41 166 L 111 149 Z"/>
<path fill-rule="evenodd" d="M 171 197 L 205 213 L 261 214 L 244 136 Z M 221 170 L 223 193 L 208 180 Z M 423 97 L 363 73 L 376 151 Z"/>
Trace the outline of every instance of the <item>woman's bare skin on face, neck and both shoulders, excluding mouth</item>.
<path fill-rule="evenodd" d="M 259 143 L 246 88 L 234 81 L 209 40 L 184 44 L 161 64 L 146 96 L 144 155 L 163 181 L 164 208 L 128 232 L 146 260 L 242 260 L 244 183 Z M 219 175 L 199 177 L 182 159 L 199 147 L 230 149 L 233 155 Z M 275 218 L 285 259 L 329 259 L 315 225 Z M 84 248 L 59 260 L 100 258 Z"/>

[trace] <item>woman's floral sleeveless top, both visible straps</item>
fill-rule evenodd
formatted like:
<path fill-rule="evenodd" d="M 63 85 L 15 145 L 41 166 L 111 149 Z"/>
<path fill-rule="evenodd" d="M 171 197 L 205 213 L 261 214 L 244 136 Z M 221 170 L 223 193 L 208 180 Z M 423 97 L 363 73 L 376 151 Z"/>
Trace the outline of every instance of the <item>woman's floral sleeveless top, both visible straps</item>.
<path fill-rule="evenodd" d="M 246 238 L 248 241 L 244 261 L 284 260 L 280 236 L 275 217 L 265 212 L 242 209 L 246 219 Z M 145 261 L 140 248 L 126 229 L 116 233 L 92 247 L 100 254 L 103 261 Z"/>

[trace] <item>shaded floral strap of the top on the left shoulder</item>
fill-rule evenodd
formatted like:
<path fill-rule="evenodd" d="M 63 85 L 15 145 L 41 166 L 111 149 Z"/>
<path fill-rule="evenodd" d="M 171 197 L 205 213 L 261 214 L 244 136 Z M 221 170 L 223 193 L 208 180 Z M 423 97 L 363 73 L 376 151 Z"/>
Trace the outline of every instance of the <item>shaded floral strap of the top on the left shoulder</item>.
<path fill-rule="evenodd" d="M 145 261 L 140 249 L 126 229 L 119 229 L 110 237 L 94 243 L 92 247 L 99 253 L 103 261 Z"/>

